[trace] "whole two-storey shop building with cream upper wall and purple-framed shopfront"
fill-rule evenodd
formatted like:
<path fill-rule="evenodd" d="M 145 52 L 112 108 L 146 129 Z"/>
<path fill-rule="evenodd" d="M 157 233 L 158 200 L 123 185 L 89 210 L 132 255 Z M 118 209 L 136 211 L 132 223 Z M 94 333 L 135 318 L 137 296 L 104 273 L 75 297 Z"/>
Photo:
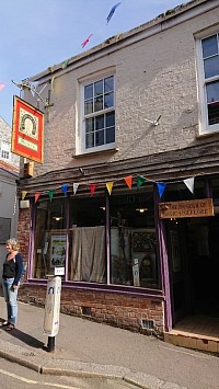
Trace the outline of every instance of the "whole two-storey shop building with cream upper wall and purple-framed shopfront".
<path fill-rule="evenodd" d="M 218 20 L 191 1 L 28 79 L 45 134 L 19 183 L 22 299 L 65 268 L 64 312 L 159 337 L 219 317 Z"/>

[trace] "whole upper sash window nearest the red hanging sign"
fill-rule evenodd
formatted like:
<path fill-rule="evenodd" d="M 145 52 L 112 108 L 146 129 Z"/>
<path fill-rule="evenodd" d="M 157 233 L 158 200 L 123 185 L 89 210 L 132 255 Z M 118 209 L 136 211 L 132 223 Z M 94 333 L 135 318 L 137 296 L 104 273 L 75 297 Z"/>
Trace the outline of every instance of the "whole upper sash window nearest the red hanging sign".
<path fill-rule="evenodd" d="M 114 76 L 83 85 L 83 150 L 97 151 L 115 144 Z"/>

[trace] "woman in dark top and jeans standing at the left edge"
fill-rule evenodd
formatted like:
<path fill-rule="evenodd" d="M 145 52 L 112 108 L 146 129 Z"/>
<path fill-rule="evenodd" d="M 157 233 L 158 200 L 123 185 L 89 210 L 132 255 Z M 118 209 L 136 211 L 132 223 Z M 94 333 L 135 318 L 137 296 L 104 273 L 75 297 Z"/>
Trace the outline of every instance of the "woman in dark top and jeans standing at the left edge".
<path fill-rule="evenodd" d="M 2 325 L 7 325 L 7 331 L 12 331 L 18 320 L 18 290 L 23 272 L 23 258 L 19 252 L 20 245 L 16 239 L 7 240 L 5 244 L 8 254 L 3 263 L 2 286 L 8 320 Z"/>

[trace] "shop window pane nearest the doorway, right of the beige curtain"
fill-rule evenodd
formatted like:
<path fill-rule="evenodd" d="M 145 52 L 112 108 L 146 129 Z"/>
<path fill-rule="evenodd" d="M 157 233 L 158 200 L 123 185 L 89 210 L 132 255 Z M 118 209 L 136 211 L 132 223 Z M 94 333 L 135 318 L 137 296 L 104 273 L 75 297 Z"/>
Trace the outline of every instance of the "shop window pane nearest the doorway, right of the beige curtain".
<path fill-rule="evenodd" d="M 111 283 L 158 288 L 157 236 L 151 193 L 112 195 Z"/>

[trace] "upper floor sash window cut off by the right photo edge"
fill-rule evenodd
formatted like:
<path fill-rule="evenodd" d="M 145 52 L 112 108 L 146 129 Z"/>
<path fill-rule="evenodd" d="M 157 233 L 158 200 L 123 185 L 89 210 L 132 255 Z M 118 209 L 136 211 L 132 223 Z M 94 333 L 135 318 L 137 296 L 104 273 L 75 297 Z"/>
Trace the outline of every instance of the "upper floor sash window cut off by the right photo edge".
<path fill-rule="evenodd" d="M 219 34 L 200 41 L 203 75 L 203 131 L 219 130 Z"/>

